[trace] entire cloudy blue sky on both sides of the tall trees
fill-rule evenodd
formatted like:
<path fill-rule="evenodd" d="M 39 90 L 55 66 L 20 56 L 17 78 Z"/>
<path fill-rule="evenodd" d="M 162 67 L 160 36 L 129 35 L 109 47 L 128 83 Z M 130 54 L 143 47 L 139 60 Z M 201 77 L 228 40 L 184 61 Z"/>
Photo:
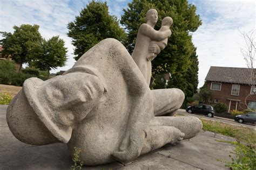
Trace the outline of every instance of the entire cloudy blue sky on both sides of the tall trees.
<path fill-rule="evenodd" d="M 0 31 L 13 32 L 14 25 L 37 24 L 42 37 L 59 35 L 68 48 L 66 66 L 52 70 L 67 70 L 73 66 L 73 46 L 66 36 L 66 25 L 75 20 L 89 1 L 82 0 L 0 0 Z M 108 0 L 109 12 L 118 18 L 131 0 Z M 203 24 L 194 32 L 193 43 L 199 59 L 199 86 L 210 66 L 246 67 L 240 48 L 245 44 L 240 32 L 256 28 L 254 0 L 189 0 L 196 5 Z M 170 16 L 171 17 L 171 16 Z M 160 21 L 159 21 L 160 22 Z M 1 38 L 1 37 L 0 37 Z"/>

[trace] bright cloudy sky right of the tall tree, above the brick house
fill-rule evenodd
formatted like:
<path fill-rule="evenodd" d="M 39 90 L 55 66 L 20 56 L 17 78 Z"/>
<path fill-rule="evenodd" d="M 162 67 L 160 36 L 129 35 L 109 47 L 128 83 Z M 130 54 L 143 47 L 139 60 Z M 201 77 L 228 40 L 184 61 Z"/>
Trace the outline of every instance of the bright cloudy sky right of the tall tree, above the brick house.
<path fill-rule="evenodd" d="M 210 66 L 246 67 L 242 32 L 255 29 L 254 1 L 194 1 L 203 25 L 193 33 L 199 59 L 199 87 Z"/>

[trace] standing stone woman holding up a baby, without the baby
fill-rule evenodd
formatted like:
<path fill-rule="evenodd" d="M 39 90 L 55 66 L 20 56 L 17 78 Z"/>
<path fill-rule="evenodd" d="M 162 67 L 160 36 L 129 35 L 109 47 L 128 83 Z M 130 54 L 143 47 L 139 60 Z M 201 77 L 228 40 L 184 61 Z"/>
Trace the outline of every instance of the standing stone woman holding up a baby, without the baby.
<path fill-rule="evenodd" d="M 132 58 L 138 65 L 148 85 L 150 84 L 151 79 L 151 60 L 148 60 L 149 52 L 156 54 L 160 53 L 159 50 L 156 51 L 157 45 L 150 46 L 151 41 L 163 41 L 171 36 L 170 29 L 164 29 L 161 31 L 154 30 L 157 20 L 157 10 L 150 9 L 147 11 L 146 23 L 139 27 L 135 47 L 132 52 Z"/>

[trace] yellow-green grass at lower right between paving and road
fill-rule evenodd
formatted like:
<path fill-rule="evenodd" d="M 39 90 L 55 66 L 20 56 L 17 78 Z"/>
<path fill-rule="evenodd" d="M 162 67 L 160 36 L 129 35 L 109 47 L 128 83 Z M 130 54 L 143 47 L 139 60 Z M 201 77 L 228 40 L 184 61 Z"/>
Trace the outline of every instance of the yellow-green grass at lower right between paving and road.
<path fill-rule="evenodd" d="M 234 137 L 236 141 L 219 140 L 220 142 L 235 145 L 235 157 L 231 161 L 219 160 L 226 163 L 231 169 L 256 169 L 256 131 L 251 128 L 229 125 L 221 122 L 201 119 L 203 129 L 225 136 Z"/>

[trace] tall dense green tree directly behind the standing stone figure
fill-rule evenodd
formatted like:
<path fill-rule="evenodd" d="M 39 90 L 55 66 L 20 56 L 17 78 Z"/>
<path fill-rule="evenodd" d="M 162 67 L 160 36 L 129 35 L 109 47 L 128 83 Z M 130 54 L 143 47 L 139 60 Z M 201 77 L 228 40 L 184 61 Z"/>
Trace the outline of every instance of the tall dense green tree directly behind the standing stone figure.
<path fill-rule="evenodd" d="M 127 30 L 127 49 L 130 53 L 134 48 L 139 26 L 145 23 L 147 10 L 154 8 L 158 11 L 159 21 L 154 27 L 156 30 L 160 29 L 161 19 L 166 16 L 172 17 L 172 35 L 164 51 L 152 61 L 152 73 L 156 73 L 152 76 L 171 73 L 173 78 L 167 87 L 180 88 L 186 95 L 193 96 L 198 84 L 198 60 L 191 32 L 196 31 L 201 25 L 199 15 L 196 15 L 196 6 L 188 4 L 187 0 L 133 0 L 128 6 L 129 8 L 124 9 L 120 23 Z M 161 72 L 156 72 L 159 67 L 163 68 L 162 66 L 166 67 L 161 69 Z M 191 70 L 193 72 L 190 72 Z M 190 80 L 190 77 L 193 77 L 193 80 Z"/>

